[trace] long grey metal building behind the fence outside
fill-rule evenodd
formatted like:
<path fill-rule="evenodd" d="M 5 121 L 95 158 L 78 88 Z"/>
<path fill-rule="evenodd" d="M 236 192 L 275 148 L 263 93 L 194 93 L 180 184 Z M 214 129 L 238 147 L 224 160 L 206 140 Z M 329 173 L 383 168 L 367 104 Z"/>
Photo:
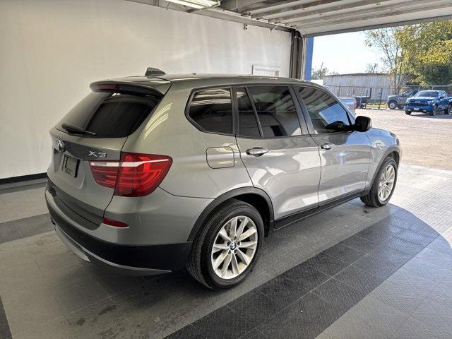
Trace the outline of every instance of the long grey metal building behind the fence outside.
<path fill-rule="evenodd" d="M 391 85 L 387 73 L 353 73 L 325 76 L 323 85 L 338 97 L 369 96 L 371 100 L 383 100 L 391 95 Z"/>

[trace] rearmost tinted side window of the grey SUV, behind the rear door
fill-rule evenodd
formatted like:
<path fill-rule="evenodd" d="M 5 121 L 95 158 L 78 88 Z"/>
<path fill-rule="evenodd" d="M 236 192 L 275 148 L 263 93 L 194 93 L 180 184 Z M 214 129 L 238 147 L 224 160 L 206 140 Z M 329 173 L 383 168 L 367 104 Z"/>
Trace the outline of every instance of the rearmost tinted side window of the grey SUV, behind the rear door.
<path fill-rule="evenodd" d="M 232 103 L 229 88 L 198 90 L 191 100 L 189 117 L 203 131 L 232 134 Z"/>

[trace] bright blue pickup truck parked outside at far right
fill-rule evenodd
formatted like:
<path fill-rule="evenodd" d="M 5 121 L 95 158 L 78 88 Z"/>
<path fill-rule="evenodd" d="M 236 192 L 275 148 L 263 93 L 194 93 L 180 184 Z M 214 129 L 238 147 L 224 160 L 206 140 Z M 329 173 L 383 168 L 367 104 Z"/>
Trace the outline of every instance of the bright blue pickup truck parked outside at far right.
<path fill-rule="evenodd" d="M 436 115 L 437 112 L 452 114 L 452 97 L 448 97 L 444 90 L 421 90 L 405 103 L 405 113 L 423 112 Z"/>

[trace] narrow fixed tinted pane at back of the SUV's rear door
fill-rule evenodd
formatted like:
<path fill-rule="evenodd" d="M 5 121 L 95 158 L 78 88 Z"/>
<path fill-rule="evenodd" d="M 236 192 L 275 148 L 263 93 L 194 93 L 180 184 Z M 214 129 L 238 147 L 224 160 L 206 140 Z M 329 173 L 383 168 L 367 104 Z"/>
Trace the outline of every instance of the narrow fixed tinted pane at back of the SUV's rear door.
<path fill-rule="evenodd" d="M 239 128 L 237 135 L 259 137 L 259 127 L 253 106 L 244 87 L 237 88 L 237 106 L 239 107 Z"/>

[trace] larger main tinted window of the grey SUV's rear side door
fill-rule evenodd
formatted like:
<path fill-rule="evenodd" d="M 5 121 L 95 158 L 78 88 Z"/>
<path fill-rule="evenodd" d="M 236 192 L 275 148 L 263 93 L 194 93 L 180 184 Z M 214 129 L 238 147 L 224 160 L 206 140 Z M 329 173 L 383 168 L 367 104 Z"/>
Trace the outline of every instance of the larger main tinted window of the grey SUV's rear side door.
<path fill-rule="evenodd" d="M 264 138 L 300 136 L 301 127 L 287 86 L 249 87 Z"/>

